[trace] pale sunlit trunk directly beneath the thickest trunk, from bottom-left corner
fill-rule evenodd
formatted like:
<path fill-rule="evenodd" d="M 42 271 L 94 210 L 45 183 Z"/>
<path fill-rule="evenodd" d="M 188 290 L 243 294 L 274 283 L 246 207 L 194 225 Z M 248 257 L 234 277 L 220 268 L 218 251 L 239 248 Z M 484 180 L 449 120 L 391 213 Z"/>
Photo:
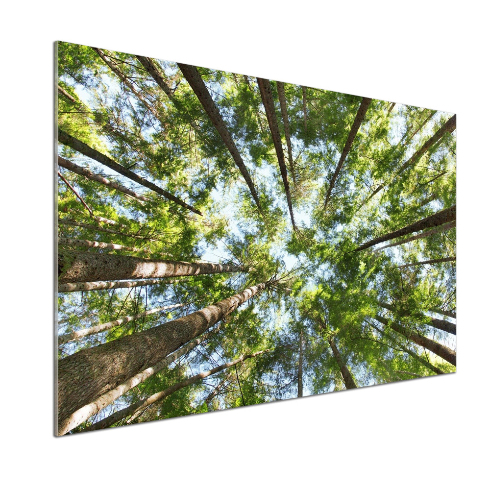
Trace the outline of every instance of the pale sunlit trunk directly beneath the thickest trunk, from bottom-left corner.
<path fill-rule="evenodd" d="M 87 420 L 89 417 L 92 417 L 93 415 L 100 412 L 102 409 L 110 405 L 113 401 L 117 400 L 124 393 L 128 392 L 140 383 L 143 383 L 143 381 L 145 381 L 150 376 L 153 376 L 153 374 L 157 374 L 162 369 L 165 369 L 167 366 L 172 364 L 172 362 L 176 361 L 179 357 L 187 354 L 192 349 L 194 349 L 196 345 L 204 342 L 206 339 L 208 339 L 212 335 L 215 335 L 219 331 L 220 327 L 218 326 L 214 330 L 211 330 L 210 332 L 202 335 L 196 340 L 186 343 L 183 347 L 168 355 L 161 362 L 155 364 L 154 366 L 151 366 L 150 368 L 140 371 L 138 374 L 127 379 L 126 381 L 124 381 L 124 383 L 121 383 L 113 390 L 104 393 L 102 396 L 99 396 L 97 400 L 78 409 L 76 412 L 71 414 L 70 417 L 67 417 L 62 424 L 60 424 L 60 426 L 58 427 L 58 436 L 63 436 L 67 432 L 80 425 L 82 422 L 85 422 L 85 420 Z"/>

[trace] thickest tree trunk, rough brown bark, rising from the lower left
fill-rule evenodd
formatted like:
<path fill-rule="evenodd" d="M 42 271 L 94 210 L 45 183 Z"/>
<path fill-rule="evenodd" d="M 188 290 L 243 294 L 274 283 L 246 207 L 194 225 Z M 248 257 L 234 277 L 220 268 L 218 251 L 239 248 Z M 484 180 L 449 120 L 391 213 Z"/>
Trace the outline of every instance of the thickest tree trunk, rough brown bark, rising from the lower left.
<path fill-rule="evenodd" d="M 63 422 L 87 403 L 113 390 L 142 369 L 160 362 L 266 286 L 266 283 L 252 286 L 191 315 L 83 349 L 62 359 L 58 363 L 58 420 Z"/>

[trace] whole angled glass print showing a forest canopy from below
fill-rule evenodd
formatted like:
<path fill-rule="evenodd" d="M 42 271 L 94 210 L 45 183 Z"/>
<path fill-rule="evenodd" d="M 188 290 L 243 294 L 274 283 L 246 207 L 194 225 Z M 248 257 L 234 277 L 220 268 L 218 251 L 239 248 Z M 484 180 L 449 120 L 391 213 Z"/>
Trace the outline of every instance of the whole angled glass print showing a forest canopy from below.
<path fill-rule="evenodd" d="M 455 114 L 55 51 L 58 436 L 456 371 Z"/>

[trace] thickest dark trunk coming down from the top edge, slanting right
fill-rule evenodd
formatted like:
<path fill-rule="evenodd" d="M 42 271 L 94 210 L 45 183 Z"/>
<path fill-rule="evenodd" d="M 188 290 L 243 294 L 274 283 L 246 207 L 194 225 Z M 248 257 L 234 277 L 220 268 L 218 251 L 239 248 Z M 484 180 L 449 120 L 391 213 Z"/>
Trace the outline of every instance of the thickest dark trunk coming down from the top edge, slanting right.
<path fill-rule="evenodd" d="M 231 153 L 233 160 L 237 164 L 237 167 L 239 168 L 245 179 L 246 185 L 250 190 L 250 194 L 252 195 L 253 200 L 257 205 L 257 208 L 262 212 L 262 208 L 259 202 L 259 196 L 257 196 L 257 191 L 255 190 L 252 179 L 250 178 L 250 174 L 248 173 L 248 170 L 245 167 L 245 163 L 240 156 L 235 142 L 233 141 L 231 134 L 228 131 L 228 128 L 223 121 L 223 118 L 221 117 L 220 110 L 214 103 L 214 100 L 209 94 L 206 85 L 204 85 L 201 75 L 199 75 L 199 73 L 197 72 L 197 68 L 193 65 L 185 65 L 183 63 L 177 63 L 177 65 L 180 68 L 180 71 L 184 74 L 185 79 L 188 81 L 197 98 L 199 99 L 199 102 L 206 111 L 209 119 L 220 134 L 223 143 L 228 148 L 228 151 Z"/>

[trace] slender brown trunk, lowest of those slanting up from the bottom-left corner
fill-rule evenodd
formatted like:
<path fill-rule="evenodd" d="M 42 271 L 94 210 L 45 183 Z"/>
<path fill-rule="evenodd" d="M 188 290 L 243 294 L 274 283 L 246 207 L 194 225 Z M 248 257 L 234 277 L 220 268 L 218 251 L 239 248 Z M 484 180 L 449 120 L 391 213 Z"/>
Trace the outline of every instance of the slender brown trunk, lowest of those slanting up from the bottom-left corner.
<path fill-rule="evenodd" d="M 196 374 L 195 376 L 192 376 L 191 378 L 187 378 L 184 381 L 181 381 L 180 383 L 177 383 L 175 385 L 172 385 L 171 387 L 158 392 L 154 393 L 151 396 L 148 396 L 144 400 L 140 400 L 138 402 L 133 403 L 132 405 L 129 405 L 129 407 L 124 408 L 123 410 L 120 410 L 119 412 L 115 412 L 114 414 L 110 415 L 109 417 L 104 418 L 103 420 L 100 420 L 100 422 L 97 422 L 86 429 L 84 431 L 91 431 L 91 430 L 97 430 L 97 429 L 105 429 L 111 425 L 113 425 L 116 422 L 119 422 L 120 420 L 125 419 L 126 417 L 129 416 L 136 416 L 137 413 L 141 412 L 142 410 L 145 410 L 147 407 L 150 405 L 153 405 L 153 403 L 157 403 L 161 400 L 163 400 L 165 397 L 171 395 L 172 393 L 180 390 L 181 388 L 184 388 L 186 386 L 192 385 L 196 383 L 197 381 L 200 381 L 201 379 L 207 378 L 208 376 L 211 376 L 211 374 L 215 374 L 217 372 L 222 371 L 223 369 L 230 368 L 231 366 L 235 366 L 238 363 L 241 363 L 242 361 L 245 361 L 246 359 L 250 359 L 252 357 L 256 357 L 260 354 L 264 354 L 265 352 L 269 352 L 270 349 L 267 350 L 261 350 L 259 352 L 254 352 L 253 354 L 247 354 L 245 356 L 241 356 L 238 359 L 235 359 L 234 361 L 231 361 L 229 363 L 222 364 L 221 366 L 218 366 L 217 368 L 210 369 L 209 371 L 204 371 L 199 374 Z"/>

